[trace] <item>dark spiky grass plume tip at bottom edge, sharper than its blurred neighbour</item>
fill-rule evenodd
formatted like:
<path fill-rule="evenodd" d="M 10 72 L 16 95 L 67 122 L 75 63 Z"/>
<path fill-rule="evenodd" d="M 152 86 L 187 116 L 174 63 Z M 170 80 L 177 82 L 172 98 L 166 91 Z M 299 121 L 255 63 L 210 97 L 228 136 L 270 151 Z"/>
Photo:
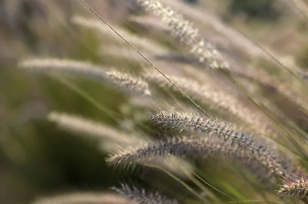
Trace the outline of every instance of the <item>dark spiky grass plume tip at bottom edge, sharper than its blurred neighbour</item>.
<path fill-rule="evenodd" d="M 122 188 L 111 189 L 126 196 L 128 200 L 136 200 L 140 204 L 180 204 L 178 200 L 163 196 L 158 191 L 149 192 L 127 183 L 121 183 L 121 186 Z"/>

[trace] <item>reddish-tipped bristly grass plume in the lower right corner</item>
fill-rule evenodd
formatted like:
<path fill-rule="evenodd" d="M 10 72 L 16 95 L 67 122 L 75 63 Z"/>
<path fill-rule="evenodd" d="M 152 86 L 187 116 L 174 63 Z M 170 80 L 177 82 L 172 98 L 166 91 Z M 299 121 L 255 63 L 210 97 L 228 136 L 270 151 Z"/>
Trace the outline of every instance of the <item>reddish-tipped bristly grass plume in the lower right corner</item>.
<path fill-rule="evenodd" d="M 283 178 L 283 185 L 278 195 L 284 199 L 295 198 L 308 203 L 308 177 L 303 173 L 294 173 L 290 177 Z"/>

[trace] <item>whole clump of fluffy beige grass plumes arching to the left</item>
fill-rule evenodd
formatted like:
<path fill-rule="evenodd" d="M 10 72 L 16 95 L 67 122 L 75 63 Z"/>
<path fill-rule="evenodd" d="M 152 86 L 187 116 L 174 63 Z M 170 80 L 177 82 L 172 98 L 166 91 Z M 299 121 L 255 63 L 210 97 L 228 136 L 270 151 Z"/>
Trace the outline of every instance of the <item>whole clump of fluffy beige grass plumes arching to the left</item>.
<path fill-rule="evenodd" d="M 162 17 L 168 24 L 172 34 L 182 42 L 185 42 L 191 48 L 191 51 L 198 55 L 201 62 L 206 61 L 209 68 L 219 70 L 229 69 L 226 60 L 223 59 L 216 48 L 209 43 L 205 43 L 202 37 L 198 34 L 198 31 L 194 29 L 192 24 L 186 21 L 182 15 L 177 14 L 169 8 L 165 8 L 161 3 L 155 0 L 138 0 L 138 3 L 153 11 L 156 15 Z M 86 19 L 83 17 L 74 17 L 72 21 L 83 27 L 98 29 L 104 35 L 109 35 L 113 32 L 109 29 L 109 25 L 106 26 L 107 24 L 105 25 L 100 21 Z M 122 35 L 124 37 L 127 36 L 128 41 L 131 41 L 132 44 L 136 45 L 136 48 L 131 46 L 136 51 L 140 48 L 145 52 L 157 52 L 156 54 L 161 54 L 163 52 L 167 53 L 165 52 L 167 48 L 156 45 L 152 42 L 152 40 L 140 38 L 139 36 L 131 34 L 121 28 L 115 28 L 115 30 L 119 31 L 121 37 Z M 122 39 L 124 38 L 122 37 Z M 128 41 L 126 41 L 126 43 Z M 108 49 L 106 49 L 106 51 L 108 52 Z M 115 52 L 117 52 L 116 49 Z M 109 54 L 112 55 L 112 53 Z M 139 51 L 138 54 L 140 54 Z M 143 55 L 141 56 L 142 59 L 145 58 Z M 121 56 L 118 57 L 121 58 Z M 147 61 L 149 62 L 148 59 Z M 152 67 L 155 67 L 152 63 L 149 62 L 149 64 L 151 64 Z M 150 168 L 157 167 L 158 169 L 166 168 L 166 171 L 169 171 L 169 169 L 171 169 L 169 167 L 172 166 L 175 169 L 182 171 L 181 168 L 187 167 L 184 163 L 176 158 L 178 162 L 174 165 L 169 162 L 168 158 L 170 157 L 167 158 L 166 156 L 171 155 L 171 157 L 188 157 L 190 158 L 189 164 L 197 163 L 196 161 L 202 160 L 207 156 L 228 158 L 230 160 L 237 160 L 241 162 L 241 164 L 243 164 L 247 169 L 251 170 L 252 174 L 257 174 L 262 178 L 266 179 L 271 176 L 275 176 L 282 179 L 284 184 L 278 191 L 280 196 L 284 198 L 295 197 L 298 200 L 308 203 L 308 179 L 303 173 L 299 175 L 292 174 L 292 172 L 296 172 L 298 170 L 293 170 L 295 161 L 291 162 L 290 160 L 287 160 L 285 155 L 282 154 L 278 147 L 273 143 L 262 138 L 253 137 L 247 134 L 247 132 L 237 128 L 236 125 L 227 124 L 220 119 L 212 119 L 206 115 L 205 111 L 203 111 L 197 103 L 195 103 L 196 100 L 202 105 L 213 105 L 213 109 L 223 112 L 230 118 L 237 117 L 239 120 L 235 119 L 235 121 L 240 125 L 245 122 L 261 129 L 264 125 L 264 122 L 260 120 L 261 118 L 252 114 L 248 115 L 250 109 L 246 106 L 245 101 L 242 101 L 241 98 L 238 98 L 234 93 L 227 93 L 225 90 L 219 89 L 214 90 L 213 87 L 209 85 L 204 86 L 206 83 L 197 83 L 194 78 L 188 79 L 174 75 L 164 75 L 164 73 L 156 67 L 155 68 L 161 75 L 147 73 L 142 77 L 139 77 L 114 69 L 105 69 L 104 67 L 93 65 L 91 63 L 78 62 L 76 60 L 69 59 L 26 59 L 23 60 L 18 66 L 26 70 L 33 70 L 47 74 L 60 73 L 81 76 L 90 80 L 99 81 L 101 83 L 107 83 L 109 86 L 116 86 L 119 89 L 122 89 L 124 93 L 126 91 L 129 93 L 134 92 L 140 96 L 151 95 L 151 97 L 154 97 L 154 94 L 150 91 L 152 90 L 151 88 L 155 88 L 155 86 L 167 87 L 172 91 L 180 91 L 197 108 L 199 108 L 201 112 L 203 112 L 204 115 L 199 115 L 197 111 L 187 113 L 167 109 L 157 110 L 151 113 L 146 120 L 151 122 L 152 127 L 160 130 L 159 133 L 156 133 L 160 134 L 160 138 L 165 138 L 159 140 L 155 139 L 155 137 L 151 139 L 130 137 L 114 128 L 73 115 L 56 112 L 52 112 L 48 115 L 48 119 L 50 121 L 55 122 L 57 125 L 66 130 L 108 140 L 106 144 L 109 147 L 105 145 L 104 150 L 107 149 L 112 152 L 106 159 L 106 162 L 112 167 L 119 167 L 120 169 L 127 171 L 128 168 L 133 169 L 133 167 L 136 166 L 146 166 Z M 235 75 L 237 74 L 236 71 L 229 73 Z M 238 73 L 238 75 L 246 79 L 253 78 L 249 74 L 245 73 L 242 75 L 241 73 Z M 149 81 L 149 84 L 147 81 Z M 262 84 L 262 80 L 259 82 Z M 277 87 L 277 84 L 278 83 L 273 83 L 273 87 Z M 180 101 L 177 100 L 177 102 Z M 143 124 L 138 125 L 142 126 Z M 145 128 L 146 131 L 149 131 L 150 133 L 155 132 L 155 129 L 151 129 L 151 127 L 142 128 Z M 141 130 L 136 128 L 136 132 L 138 131 L 142 132 L 143 129 Z M 176 133 L 177 135 L 168 137 L 168 135 L 165 134 L 166 132 Z M 183 136 L 182 133 L 185 133 L 185 136 Z M 224 159 L 222 159 L 222 161 L 223 160 Z M 210 163 L 209 166 L 215 166 L 215 164 Z M 189 172 L 186 172 L 185 175 L 189 177 L 188 174 L 194 172 L 190 170 L 191 168 L 186 168 L 186 170 L 187 169 Z M 203 169 L 200 169 L 200 172 L 202 170 Z M 175 172 L 176 171 L 171 173 Z M 194 175 L 198 176 L 195 173 Z M 201 179 L 199 176 L 198 178 Z M 205 180 L 201 180 L 207 184 Z M 182 184 L 183 183 L 185 182 L 183 181 Z M 194 183 L 196 184 L 198 182 L 195 181 Z M 149 192 L 144 188 L 130 186 L 126 183 L 122 183 L 121 186 L 122 188 L 112 187 L 112 189 L 122 195 L 125 195 L 128 200 L 133 201 L 132 203 L 179 203 L 179 201 L 175 199 L 160 195 L 158 191 Z M 202 185 L 197 186 L 204 190 Z M 220 189 L 214 189 L 224 195 L 227 195 Z M 265 194 L 268 192 L 264 190 L 262 193 Z M 197 195 L 199 194 L 197 193 Z M 100 199 L 103 199 L 103 197 L 97 198 L 94 195 L 84 195 L 83 197 L 79 196 L 80 194 L 72 196 L 69 195 L 67 197 L 63 196 L 59 199 L 50 199 L 50 202 L 48 202 L 47 199 L 46 203 L 78 203 L 79 201 L 96 203 L 97 201 L 100 201 Z M 203 198 L 202 196 L 198 197 Z M 232 198 L 229 196 L 227 197 Z M 241 195 L 238 197 L 241 197 Z M 119 200 L 117 200 L 118 198 Z M 102 203 L 104 203 L 104 201 L 108 201 L 108 199 L 109 198 L 106 197 Z M 121 199 L 122 197 L 116 196 L 112 197 L 112 199 L 108 202 L 122 203 L 123 200 Z M 42 203 L 45 202 L 42 201 Z"/>

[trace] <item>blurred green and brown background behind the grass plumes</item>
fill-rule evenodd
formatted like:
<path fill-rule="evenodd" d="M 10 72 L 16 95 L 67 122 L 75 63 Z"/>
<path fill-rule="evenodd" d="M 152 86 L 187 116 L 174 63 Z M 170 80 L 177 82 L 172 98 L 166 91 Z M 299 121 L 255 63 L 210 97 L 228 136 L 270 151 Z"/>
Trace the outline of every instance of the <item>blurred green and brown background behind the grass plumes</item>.
<path fill-rule="evenodd" d="M 133 0 L 85 2 L 115 27 L 138 33 L 172 50 L 181 48 L 176 40 L 163 33 L 164 27 L 157 25 L 155 17 L 149 17 L 147 21 L 141 19 L 145 11 Z M 281 74 L 277 65 L 268 63 L 260 50 L 250 47 L 247 56 L 247 43 L 232 39 L 232 34 L 228 36 L 232 26 L 268 50 L 275 51 L 279 60 L 296 72 L 306 71 L 308 6 L 304 1 L 170 2 L 178 2 L 179 8 L 181 5 L 189 8 L 184 15 L 192 18 L 205 39 L 235 61 L 266 67 L 266 71 L 274 75 Z M 204 16 L 190 16 L 193 10 Z M 100 150 L 97 142 L 57 128 L 46 120 L 50 111 L 80 115 L 128 131 L 134 129 L 136 121 L 142 120 L 147 111 L 130 106 L 129 98 L 112 87 L 70 79 L 104 110 L 122 115 L 119 123 L 68 85 L 17 68 L 20 60 L 29 57 L 85 60 L 131 72 L 138 72 L 144 66 L 134 59 L 136 55 L 129 47 L 123 46 L 120 49 L 123 53 L 120 53 L 114 49 L 110 38 L 72 23 L 74 16 L 95 18 L 77 0 L 0 0 L 1 203 L 29 203 L 41 196 L 70 191 L 106 191 L 110 186 L 118 185 L 121 176 L 106 166 L 106 152 Z M 120 41 L 116 36 L 111 38 L 116 43 Z M 156 54 L 153 49 L 147 51 Z M 174 67 L 180 64 L 170 63 Z M 281 76 L 286 78 L 287 74 Z M 271 94 L 275 95 L 275 92 L 269 92 Z M 280 103 L 282 107 L 288 106 L 286 101 Z M 299 126 L 308 129 L 302 112 L 285 111 Z"/>

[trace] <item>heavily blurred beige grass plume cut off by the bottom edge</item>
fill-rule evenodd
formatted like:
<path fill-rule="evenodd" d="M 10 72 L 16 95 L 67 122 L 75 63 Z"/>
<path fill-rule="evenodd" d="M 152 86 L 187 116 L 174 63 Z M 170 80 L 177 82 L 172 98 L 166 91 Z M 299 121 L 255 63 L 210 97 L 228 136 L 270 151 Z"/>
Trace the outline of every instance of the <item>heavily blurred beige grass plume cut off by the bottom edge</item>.
<path fill-rule="evenodd" d="M 74 192 L 36 199 L 31 204 L 137 204 L 113 193 Z"/>

